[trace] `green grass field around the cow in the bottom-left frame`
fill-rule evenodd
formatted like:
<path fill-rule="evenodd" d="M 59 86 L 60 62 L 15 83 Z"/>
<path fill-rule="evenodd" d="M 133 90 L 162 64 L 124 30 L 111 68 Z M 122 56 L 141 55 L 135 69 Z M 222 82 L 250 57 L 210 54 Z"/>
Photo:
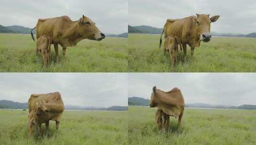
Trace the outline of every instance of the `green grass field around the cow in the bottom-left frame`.
<path fill-rule="evenodd" d="M 49 136 L 29 136 L 27 111 L 0 110 L 0 145 L 127 145 L 127 112 L 65 111 Z"/>

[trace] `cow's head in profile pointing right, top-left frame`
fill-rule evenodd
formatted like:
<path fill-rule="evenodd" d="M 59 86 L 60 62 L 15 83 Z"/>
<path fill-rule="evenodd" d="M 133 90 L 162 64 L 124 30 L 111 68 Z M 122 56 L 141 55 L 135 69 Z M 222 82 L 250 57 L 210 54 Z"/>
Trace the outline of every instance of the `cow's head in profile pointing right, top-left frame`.
<path fill-rule="evenodd" d="M 101 41 L 105 38 L 105 34 L 96 27 L 95 22 L 84 15 L 78 21 L 78 34 L 85 39 L 96 41 Z"/>

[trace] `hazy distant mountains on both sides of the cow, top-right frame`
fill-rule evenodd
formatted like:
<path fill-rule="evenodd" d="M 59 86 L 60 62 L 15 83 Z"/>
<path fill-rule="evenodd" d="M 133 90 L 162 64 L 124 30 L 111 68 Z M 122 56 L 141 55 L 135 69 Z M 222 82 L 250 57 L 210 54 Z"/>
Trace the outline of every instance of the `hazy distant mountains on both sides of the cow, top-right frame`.
<path fill-rule="evenodd" d="M 163 28 L 155 28 L 151 26 L 141 25 L 141 26 L 130 26 L 128 25 L 128 33 L 147 33 L 147 34 L 161 34 Z M 251 37 L 256 38 L 256 32 L 249 34 L 237 34 L 237 33 L 218 33 L 211 32 L 212 36 L 221 36 L 221 37 Z"/>

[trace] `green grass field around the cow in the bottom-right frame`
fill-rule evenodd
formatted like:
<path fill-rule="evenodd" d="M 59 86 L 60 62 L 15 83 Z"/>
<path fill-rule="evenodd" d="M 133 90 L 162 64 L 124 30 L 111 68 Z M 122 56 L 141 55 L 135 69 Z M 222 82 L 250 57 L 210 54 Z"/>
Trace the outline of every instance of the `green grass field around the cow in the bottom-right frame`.
<path fill-rule="evenodd" d="M 129 107 L 130 145 L 256 145 L 256 110 L 186 109 L 181 125 L 158 133 L 156 108 Z"/>

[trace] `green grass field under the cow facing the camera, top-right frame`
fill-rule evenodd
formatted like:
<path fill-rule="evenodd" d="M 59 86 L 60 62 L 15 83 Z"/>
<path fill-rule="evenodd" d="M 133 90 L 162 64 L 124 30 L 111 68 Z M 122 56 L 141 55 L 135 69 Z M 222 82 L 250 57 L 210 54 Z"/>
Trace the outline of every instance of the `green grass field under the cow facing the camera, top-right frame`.
<path fill-rule="evenodd" d="M 187 62 L 179 50 L 176 67 L 171 67 L 163 43 L 158 48 L 159 39 L 160 35 L 129 34 L 130 72 L 256 72 L 256 38 L 213 37 L 201 42 L 193 58 L 187 46 Z"/>

